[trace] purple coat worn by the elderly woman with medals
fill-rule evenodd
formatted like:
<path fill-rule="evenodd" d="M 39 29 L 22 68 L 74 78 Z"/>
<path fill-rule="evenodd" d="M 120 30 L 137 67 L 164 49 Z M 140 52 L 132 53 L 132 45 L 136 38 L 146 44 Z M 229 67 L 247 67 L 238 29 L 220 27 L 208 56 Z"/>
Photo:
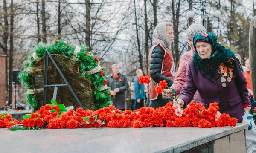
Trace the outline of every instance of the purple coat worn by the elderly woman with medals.
<path fill-rule="evenodd" d="M 244 115 L 242 102 L 249 103 L 250 101 L 247 82 L 242 71 L 240 71 L 238 63 L 236 64 L 236 69 L 239 72 L 237 74 L 233 72 L 231 81 L 226 81 L 227 86 L 222 87 L 218 70 L 216 70 L 217 77 L 215 80 L 211 80 L 201 71 L 195 74 L 191 59 L 187 66 L 186 83 L 181 89 L 179 99 L 182 99 L 187 105 L 192 100 L 196 90 L 198 90 L 198 102 L 202 103 L 204 107 L 207 108 L 210 103 L 217 102 L 221 113 L 227 113 L 230 117 L 237 118 L 238 122 L 242 122 L 242 116 Z"/>

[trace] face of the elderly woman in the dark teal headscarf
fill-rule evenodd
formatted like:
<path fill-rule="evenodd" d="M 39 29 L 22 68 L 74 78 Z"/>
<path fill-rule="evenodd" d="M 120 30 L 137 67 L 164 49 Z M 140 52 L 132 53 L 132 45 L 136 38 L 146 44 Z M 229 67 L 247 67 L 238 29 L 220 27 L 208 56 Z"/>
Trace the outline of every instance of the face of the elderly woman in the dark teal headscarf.
<path fill-rule="evenodd" d="M 212 54 L 212 45 L 209 43 L 198 41 L 195 43 L 195 47 L 198 55 L 202 59 L 207 59 Z"/>

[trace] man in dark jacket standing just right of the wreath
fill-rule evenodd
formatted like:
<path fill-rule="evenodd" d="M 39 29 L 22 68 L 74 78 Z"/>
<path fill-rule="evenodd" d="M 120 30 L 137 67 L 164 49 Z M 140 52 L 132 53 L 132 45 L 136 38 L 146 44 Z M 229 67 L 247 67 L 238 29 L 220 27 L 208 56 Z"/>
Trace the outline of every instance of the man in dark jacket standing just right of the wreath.
<path fill-rule="evenodd" d="M 107 86 L 111 88 L 111 99 L 117 109 L 125 110 L 125 91 L 129 88 L 125 75 L 119 73 L 119 66 L 112 65 L 112 74 L 108 75 Z"/>

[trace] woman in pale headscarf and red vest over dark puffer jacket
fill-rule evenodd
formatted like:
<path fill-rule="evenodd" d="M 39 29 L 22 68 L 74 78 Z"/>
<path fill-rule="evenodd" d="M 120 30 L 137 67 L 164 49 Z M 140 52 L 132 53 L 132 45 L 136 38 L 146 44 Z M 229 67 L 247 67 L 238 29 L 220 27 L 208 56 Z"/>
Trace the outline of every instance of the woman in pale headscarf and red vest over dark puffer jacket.
<path fill-rule="evenodd" d="M 175 76 L 175 64 L 173 56 L 169 51 L 173 38 L 172 23 L 164 22 L 158 24 L 154 29 L 153 46 L 148 55 L 149 75 L 157 83 L 161 80 L 166 80 L 169 87 L 171 87 Z M 169 102 L 162 95 L 158 95 L 155 87 L 151 84 L 149 84 L 149 96 L 149 106 L 153 108 L 162 107 Z"/>

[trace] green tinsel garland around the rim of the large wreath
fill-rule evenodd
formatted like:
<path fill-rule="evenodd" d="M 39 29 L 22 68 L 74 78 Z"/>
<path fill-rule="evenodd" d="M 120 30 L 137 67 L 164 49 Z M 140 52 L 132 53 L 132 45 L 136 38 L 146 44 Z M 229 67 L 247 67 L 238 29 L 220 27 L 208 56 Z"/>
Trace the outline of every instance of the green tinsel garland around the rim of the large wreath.
<path fill-rule="evenodd" d="M 45 55 L 46 49 L 51 54 L 61 54 L 71 58 L 76 49 L 76 45 L 70 45 L 68 43 L 65 43 L 64 40 L 55 40 L 49 44 L 40 42 L 37 46 L 35 46 L 35 53 L 38 56 L 38 58 L 42 58 Z M 91 69 L 94 69 L 96 66 L 99 65 L 98 59 L 95 58 L 91 52 L 87 52 L 88 49 L 88 46 L 81 46 L 80 52 L 77 53 L 76 61 L 80 63 L 81 76 L 90 79 L 93 82 L 93 85 L 96 87 L 93 92 L 93 94 L 95 95 L 96 109 L 108 107 L 112 104 L 108 88 L 99 91 L 99 89 L 104 86 L 103 84 L 105 83 L 105 80 L 108 80 L 105 68 L 102 68 L 102 76 L 100 75 L 100 71 L 92 75 L 86 74 L 86 71 L 90 71 Z M 27 68 L 33 67 L 33 65 L 34 58 L 32 54 L 29 54 L 27 59 L 23 62 L 23 71 L 19 73 L 20 82 L 22 82 L 25 85 L 25 89 L 34 89 L 31 74 L 29 71 L 27 71 Z M 26 101 L 29 103 L 31 107 L 38 107 L 34 94 L 26 93 Z"/>

